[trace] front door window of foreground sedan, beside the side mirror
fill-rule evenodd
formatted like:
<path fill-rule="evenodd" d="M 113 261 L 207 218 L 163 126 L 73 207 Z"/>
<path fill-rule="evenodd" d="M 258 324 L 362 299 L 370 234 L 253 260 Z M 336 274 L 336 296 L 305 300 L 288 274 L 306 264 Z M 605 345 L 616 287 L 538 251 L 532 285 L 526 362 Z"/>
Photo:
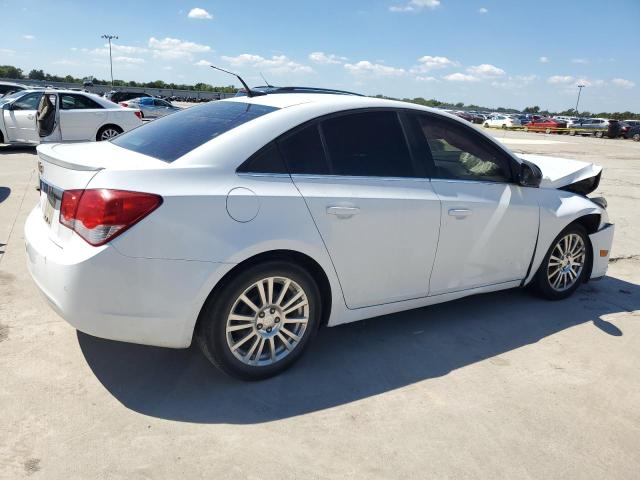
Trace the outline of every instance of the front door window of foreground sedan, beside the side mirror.
<path fill-rule="evenodd" d="M 431 150 L 435 178 L 511 181 L 507 155 L 470 128 L 427 115 L 418 116 L 418 121 Z"/>

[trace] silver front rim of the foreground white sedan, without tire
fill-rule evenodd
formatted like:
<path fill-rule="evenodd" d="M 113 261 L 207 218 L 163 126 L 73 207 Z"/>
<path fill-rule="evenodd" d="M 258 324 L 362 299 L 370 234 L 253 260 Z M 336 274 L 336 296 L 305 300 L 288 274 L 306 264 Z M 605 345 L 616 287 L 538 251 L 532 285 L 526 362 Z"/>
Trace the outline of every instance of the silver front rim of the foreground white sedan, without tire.
<path fill-rule="evenodd" d="M 551 251 L 547 265 L 547 279 L 551 288 L 563 292 L 580 278 L 586 260 L 586 248 L 582 237 L 569 233 L 560 238 Z"/>

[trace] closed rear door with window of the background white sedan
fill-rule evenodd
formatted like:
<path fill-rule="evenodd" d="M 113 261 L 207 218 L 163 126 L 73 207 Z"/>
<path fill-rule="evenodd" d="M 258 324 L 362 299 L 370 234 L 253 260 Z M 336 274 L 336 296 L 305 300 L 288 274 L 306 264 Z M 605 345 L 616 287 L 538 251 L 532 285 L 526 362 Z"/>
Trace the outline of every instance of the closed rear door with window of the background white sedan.
<path fill-rule="evenodd" d="M 91 98 L 75 93 L 60 94 L 62 141 L 95 140 L 107 121 L 107 111 Z"/>

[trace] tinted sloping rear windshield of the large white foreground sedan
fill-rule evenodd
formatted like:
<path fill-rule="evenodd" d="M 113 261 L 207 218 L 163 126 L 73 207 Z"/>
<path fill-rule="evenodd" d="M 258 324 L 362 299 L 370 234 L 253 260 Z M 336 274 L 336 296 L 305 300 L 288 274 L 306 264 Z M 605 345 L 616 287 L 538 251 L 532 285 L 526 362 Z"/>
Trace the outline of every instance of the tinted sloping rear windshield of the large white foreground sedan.
<path fill-rule="evenodd" d="M 113 140 L 119 147 L 173 162 L 200 145 L 275 107 L 243 102 L 209 102 L 154 120 Z"/>

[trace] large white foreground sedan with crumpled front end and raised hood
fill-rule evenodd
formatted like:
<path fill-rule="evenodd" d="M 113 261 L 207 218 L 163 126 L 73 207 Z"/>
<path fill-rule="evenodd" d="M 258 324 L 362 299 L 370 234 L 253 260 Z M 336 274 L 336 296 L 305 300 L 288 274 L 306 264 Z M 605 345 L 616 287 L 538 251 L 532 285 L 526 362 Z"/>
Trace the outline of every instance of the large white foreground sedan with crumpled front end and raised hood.
<path fill-rule="evenodd" d="M 605 275 L 613 238 L 587 197 L 600 167 L 383 99 L 238 97 L 38 155 L 25 239 L 53 308 L 98 337 L 195 339 L 244 379 L 321 325 L 525 286 L 566 298 Z"/>

